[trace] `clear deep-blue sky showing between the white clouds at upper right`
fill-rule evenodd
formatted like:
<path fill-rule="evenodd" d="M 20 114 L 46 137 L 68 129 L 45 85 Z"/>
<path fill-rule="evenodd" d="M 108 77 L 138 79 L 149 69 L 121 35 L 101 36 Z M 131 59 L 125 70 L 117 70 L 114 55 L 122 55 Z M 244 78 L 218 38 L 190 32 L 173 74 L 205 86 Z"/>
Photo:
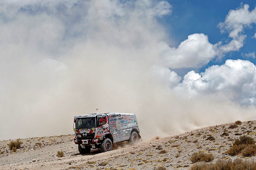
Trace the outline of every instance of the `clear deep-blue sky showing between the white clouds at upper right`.
<path fill-rule="evenodd" d="M 250 10 L 253 10 L 256 6 L 253 0 L 234 0 L 234 1 L 204 1 L 204 0 L 170 0 L 172 4 L 172 14 L 164 17 L 166 25 L 170 26 L 170 34 L 174 37 L 179 44 L 187 38 L 187 35 L 193 33 L 204 33 L 208 35 L 209 41 L 212 44 L 217 43 L 222 39 L 227 39 L 228 33 L 220 33 L 220 29 L 217 27 L 218 23 L 224 22 L 225 17 L 228 15 L 229 10 L 235 10 L 243 4 L 249 4 Z M 255 24 L 252 24 L 252 28 L 246 28 L 244 31 L 248 36 L 243 48 L 237 52 L 230 52 L 226 54 L 225 59 L 237 59 L 241 58 L 248 60 L 241 56 L 242 53 L 255 52 L 256 39 L 252 38 L 255 34 Z M 250 58 L 254 64 L 255 58 Z M 225 60 L 215 61 L 208 64 L 223 64 Z M 202 70 L 203 71 L 203 70 Z"/>

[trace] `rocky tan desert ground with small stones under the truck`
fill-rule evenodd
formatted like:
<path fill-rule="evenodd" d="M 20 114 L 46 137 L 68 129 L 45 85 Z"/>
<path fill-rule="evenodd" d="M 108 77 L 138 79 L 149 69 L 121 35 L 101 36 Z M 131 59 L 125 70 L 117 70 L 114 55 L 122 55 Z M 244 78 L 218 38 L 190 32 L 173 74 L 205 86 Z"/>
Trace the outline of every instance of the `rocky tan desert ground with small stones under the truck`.
<path fill-rule="evenodd" d="M 80 155 L 73 135 L 34 137 L 21 139 L 23 144 L 16 152 L 10 151 L 10 141 L 0 141 L 1 170 L 186 170 L 193 166 L 189 157 L 199 151 L 212 153 L 218 159 L 243 158 L 227 155 L 234 139 L 241 135 L 256 136 L 256 121 L 242 122 L 231 129 L 232 124 L 222 124 L 197 129 L 180 135 L 153 139 L 130 146 L 126 142 L 115 145 L 113 151 L 100 153 L 92 149 L 90 154 Z M 64 156 L 57 157 L 57 151 Z M 162 168 L 161 168 L 162 167 Z"/>

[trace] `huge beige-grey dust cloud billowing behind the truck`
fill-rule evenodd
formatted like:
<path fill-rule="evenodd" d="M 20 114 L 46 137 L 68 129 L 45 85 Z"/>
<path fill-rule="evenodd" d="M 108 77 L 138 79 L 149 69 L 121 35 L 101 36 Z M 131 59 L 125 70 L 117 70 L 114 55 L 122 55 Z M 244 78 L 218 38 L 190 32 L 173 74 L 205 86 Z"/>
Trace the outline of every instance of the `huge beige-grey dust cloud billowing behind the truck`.
<path fill-rule="evenodd" d="M 173 43 L 157 21 L 170 5 L 158 4 L 167 11 L 159 13 L 153 2 L 46 2 L 4 4 L 15 8 L 1 19 L 0 140 L 72 134 L 73 116 L 96 108 L 136 114 L 145 140 L 254 118 L 253 107 L 186 98 L 153 75 L 159 43 Z"/>

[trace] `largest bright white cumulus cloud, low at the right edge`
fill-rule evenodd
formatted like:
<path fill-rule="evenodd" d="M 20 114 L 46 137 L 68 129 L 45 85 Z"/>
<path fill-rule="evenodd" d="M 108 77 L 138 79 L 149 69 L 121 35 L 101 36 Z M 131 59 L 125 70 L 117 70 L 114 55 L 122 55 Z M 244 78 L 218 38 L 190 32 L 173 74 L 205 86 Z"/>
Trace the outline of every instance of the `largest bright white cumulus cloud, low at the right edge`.
<path fill-rule="evenodd" d="M 240 104 L 255 104 L 256 66 L 245 60 L 227 60 L 223 65 L 210 66 L 199 75 L 194 71 L 184 77 L 176 88 L 184 94 L 216 95 L 220 100 L 229 99 Z M 179 93 L 179 92 L 178 92 Z M 250 102 L 249 102 L 250 101 Z"/>

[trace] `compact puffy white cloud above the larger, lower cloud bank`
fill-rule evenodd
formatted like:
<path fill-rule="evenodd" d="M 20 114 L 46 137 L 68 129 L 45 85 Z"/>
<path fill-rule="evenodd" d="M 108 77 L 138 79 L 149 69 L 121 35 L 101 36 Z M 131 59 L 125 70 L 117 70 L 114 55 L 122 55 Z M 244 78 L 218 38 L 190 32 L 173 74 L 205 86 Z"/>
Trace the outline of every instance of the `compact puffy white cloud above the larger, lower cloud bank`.
<path fill-rule="evenodd" d="M 178 48 L 170 48 L 161 43 L 162 60 L 170 68 L 199 68 L 206 65 L 216 55 L 214 46 L 208 41 L 208 36 L 195 33 L 181 42 Z"/>

